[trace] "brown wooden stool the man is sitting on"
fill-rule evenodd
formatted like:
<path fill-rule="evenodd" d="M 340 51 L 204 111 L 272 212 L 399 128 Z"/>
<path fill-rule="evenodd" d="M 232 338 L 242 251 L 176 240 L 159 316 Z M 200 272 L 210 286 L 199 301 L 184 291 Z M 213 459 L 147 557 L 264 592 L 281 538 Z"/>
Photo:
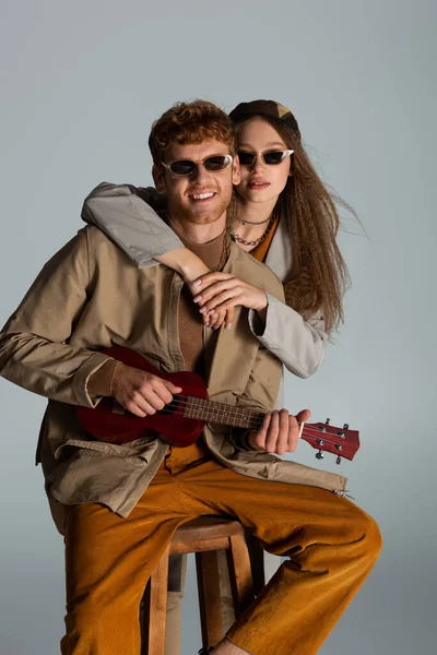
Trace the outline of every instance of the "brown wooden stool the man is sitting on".
<path fill-rule="evenodd" d="M 226 550 L 235 617 L 264 586 L 263 551 L 244 526 L 232 519 L 201 516 L 176 532 L 145 590 L 142 603 L 141 655 L 164 655 L 168 557 L 196 553 L 203 646 L 224 636 L 217 551 Z"/>

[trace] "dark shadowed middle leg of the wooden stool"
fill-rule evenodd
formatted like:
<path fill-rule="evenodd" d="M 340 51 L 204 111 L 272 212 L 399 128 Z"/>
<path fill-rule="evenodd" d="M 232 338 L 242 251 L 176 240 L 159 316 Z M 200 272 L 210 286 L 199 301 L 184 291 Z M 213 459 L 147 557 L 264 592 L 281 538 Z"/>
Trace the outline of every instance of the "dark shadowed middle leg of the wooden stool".
<path fill-rule="evenodd" d="M 196 553 L 200 623 L 203 647 L 215 646 L 223 639 L 217 551 Z"/>

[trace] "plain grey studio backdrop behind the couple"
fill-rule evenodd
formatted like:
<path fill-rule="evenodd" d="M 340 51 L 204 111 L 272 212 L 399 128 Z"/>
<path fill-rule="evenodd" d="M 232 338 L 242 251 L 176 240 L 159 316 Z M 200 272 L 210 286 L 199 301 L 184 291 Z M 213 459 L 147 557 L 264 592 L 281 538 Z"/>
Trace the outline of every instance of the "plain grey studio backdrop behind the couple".
<path fill-rule="evenodd" d="M 92 187 L 150 181 L 150 126 L 176 100 L 287 105 L 366 227 L 341 236 L 353 288 L 335 345 L 286 381 L 291 410 L 361 430 L 342 469 L 385 537 L 323 655 L 436 652 L 436 14 L 432 0 L 0 4 L 1 323 Z M 33 466 L 44 406 L 0 380 L 2 655 L 54 655 L 63 630 L 62 539 Z M 316 463 L 305 443 L 297 458 Z M 190 571 L 184 655 L 200 646 Z"/>

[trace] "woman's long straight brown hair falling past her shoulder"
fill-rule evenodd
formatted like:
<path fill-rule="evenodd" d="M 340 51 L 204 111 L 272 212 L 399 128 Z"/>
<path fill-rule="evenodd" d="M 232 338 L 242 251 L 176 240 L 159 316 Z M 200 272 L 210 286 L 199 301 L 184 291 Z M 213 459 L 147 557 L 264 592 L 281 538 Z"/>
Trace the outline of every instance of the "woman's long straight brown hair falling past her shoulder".
<path fill-rule="evenodd" d="M 292 270 L 284 281 L 286 303 L 305 319 L 322 312 L 330 332 L 344 320 L 343 296 L 350 286 L 347 267 L 336 245 L 340 217 L 335 205 L 351 207 L 323 184 L 298 131 L 269 116 L 250 116 L 236 123 L 237 131 L 253 118 L 269 122 L 286 146 L 294 150 L 293 176 L 279 199 L 282 216 L 288 219 L 293 253 Z"/>

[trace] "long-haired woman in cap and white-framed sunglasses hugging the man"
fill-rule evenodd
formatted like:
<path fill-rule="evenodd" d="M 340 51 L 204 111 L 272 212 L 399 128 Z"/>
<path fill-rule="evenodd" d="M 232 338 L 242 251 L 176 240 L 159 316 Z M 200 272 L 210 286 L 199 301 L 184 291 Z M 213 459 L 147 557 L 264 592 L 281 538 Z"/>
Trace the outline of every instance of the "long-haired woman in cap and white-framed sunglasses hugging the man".
<path fill-rule="evenodd" d="M 286 107 L 255 100 L 238 105 L 229 116 L 241 181 L 228 211 L 228 231 L 283 281 L 286 303 L 232 275 L 208 271 L 149 206 L 162 207 L 153 190 L 101 184 L 85 200 L 82 217 L 140 266 L 161 262 L 180 273 L 206 325 L 217 329 L 225 322 L 232 329 L 234 308 L 248 308 L 253 335 L 292 373 L 307 378 L 324 357 L 329 333 L 343 320 L 349 276 L 335 241 L 334 199 L 307 157 L 297 121 Z M 176 174 L 189 175 L 189 168 L 181 165 Z M 204 195 L 200 200 L 208 202 Z M 174 560 L 168 606 L 174 611 L 167 618 L 167 635 L 173 638 L 167 653 L 173 655 L 180 631 L 180 559 Z"/>

